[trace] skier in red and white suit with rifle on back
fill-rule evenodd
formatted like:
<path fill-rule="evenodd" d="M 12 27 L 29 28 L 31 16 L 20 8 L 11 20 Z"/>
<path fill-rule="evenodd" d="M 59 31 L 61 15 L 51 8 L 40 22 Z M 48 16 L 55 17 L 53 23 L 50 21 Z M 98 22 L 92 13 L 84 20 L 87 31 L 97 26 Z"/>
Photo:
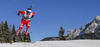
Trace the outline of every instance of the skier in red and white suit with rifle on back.
<path fill-rule="evenodd" d="M 31 5 L 32 7 L 33 5 Z M 18 16 L 20 16 L 20 13 L 23 15 L 22 17 L 22 20 L 21 20 L 21 24 L 19 26 L 19 30 L 17 30 L 14 38 L 13 38 L 13 42 L 16 42 L 15 39 L 16 37 L 19 35 L 19 32 L 22 30 L 23 26 L 26 25 L 26 32 L 25 32 L 25 38 L 24 38 L 24 41 L 27 41 L 27 36 L 28 36 L 28 33 L 29 33 L 29 28 L 30 28 L 30 19 L 34 17 L 35 13 L 32 12 L 32 9 L 28 8 L 27 11 L 22 11 L 22 10 L 19 10 L 18 12 Z"/>

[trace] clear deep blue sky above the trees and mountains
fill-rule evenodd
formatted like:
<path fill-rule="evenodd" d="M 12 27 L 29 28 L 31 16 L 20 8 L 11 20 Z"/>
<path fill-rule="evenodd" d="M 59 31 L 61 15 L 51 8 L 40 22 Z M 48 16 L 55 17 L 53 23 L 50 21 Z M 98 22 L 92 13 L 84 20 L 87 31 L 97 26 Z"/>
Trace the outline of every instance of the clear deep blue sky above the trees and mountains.
<path fill-rule="evenodd" d="M 22 15 L 19 17 L 17 13 L 27 10 L 31 4 L 36 13 L 31 19 L 32 41 L 58 36 L 60 26 L 63 26 L 66 34 L 100 15 L 100 0 L 0 0 L 0 22 L 7 20 L 18 30 Z M 26 26 L 23 30 L 26 30 Z"/>

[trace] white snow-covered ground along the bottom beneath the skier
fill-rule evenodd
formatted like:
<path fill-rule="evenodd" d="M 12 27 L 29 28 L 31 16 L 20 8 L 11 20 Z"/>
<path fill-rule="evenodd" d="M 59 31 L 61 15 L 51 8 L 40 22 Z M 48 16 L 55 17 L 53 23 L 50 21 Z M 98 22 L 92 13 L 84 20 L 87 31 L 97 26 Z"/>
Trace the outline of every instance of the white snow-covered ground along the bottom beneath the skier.
<path fill-rule="evenodd" d="M 100 47 L 100 40 L 37 41 L 1 43 L 0 47 Z"/>

